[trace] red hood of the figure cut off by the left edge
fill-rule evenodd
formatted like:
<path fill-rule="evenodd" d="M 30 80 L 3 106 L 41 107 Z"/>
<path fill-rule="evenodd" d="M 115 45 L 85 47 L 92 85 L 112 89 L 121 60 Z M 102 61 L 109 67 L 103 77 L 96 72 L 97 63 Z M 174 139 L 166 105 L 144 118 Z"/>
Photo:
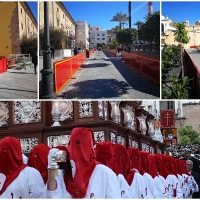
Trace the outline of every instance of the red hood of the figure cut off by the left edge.
<path fill-rule="evenodd" d="M 0 140 L 0 173 L 6 176 L 0 195 L 27 166 L 23 163 L 20 139 L 5 137 Z"/>

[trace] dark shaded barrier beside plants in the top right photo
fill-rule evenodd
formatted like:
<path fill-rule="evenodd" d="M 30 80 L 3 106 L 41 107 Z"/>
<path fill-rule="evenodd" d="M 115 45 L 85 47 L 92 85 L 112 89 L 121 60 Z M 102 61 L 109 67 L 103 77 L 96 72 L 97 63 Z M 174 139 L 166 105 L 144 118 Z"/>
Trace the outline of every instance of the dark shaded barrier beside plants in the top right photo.
<path fill-rule="evenodd" d="M 190 81 L 190 95 L 191 99 L 200 98 L 200 68 L 192 61 L 187 51 L 184 51 L 185 62 L 187 65 L 187 75 L 192 78 Z"/>

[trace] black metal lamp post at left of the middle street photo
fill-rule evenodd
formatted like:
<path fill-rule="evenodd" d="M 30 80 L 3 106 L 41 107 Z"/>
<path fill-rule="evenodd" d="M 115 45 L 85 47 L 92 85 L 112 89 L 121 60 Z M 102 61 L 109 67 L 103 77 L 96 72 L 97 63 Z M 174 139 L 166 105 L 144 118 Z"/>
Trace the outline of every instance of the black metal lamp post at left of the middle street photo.
<path fill-rule="evenodd" d="M 44 51 L 42 74 L 41 99 L 57 99 L 54 90 L 54 71 L 51 63 L 50 39 L 49 39 L 49 3 L 44 1 Z"/>

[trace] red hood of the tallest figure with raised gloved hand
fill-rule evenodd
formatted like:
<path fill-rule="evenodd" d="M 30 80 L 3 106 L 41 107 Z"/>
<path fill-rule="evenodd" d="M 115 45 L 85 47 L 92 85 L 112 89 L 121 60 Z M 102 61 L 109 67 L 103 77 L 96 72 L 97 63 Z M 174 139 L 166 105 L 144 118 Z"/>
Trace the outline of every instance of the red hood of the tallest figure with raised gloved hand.
<path fill-rule="evenodd" d="M 94 151 L 94 133 L 89 128 L 74 128 L 70 135 L 68 152 L 72 166 L 72 174 L 64 177 L 67 191 L 73 198 L 84 198 L 89 179 L 98 164 Z"/>

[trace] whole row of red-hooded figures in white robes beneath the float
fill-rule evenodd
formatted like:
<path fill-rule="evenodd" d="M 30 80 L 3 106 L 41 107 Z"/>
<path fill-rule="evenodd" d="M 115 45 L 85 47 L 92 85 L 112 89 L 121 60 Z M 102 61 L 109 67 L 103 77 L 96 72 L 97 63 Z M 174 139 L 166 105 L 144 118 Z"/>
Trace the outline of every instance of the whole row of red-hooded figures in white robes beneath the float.
<path fill-rule="evenodd" d="M 59 150 L 68 155 L 66 165 L 52 169 Z M 182 199 L 199 192 L 186 160 L 111 142 L 95 144 L 92 130 L 82 127 L 72 130 L 67 146 L 36 145 L 26 161 L 20 139 L 5 137 L 0 162 L 1 198 Z"/>

